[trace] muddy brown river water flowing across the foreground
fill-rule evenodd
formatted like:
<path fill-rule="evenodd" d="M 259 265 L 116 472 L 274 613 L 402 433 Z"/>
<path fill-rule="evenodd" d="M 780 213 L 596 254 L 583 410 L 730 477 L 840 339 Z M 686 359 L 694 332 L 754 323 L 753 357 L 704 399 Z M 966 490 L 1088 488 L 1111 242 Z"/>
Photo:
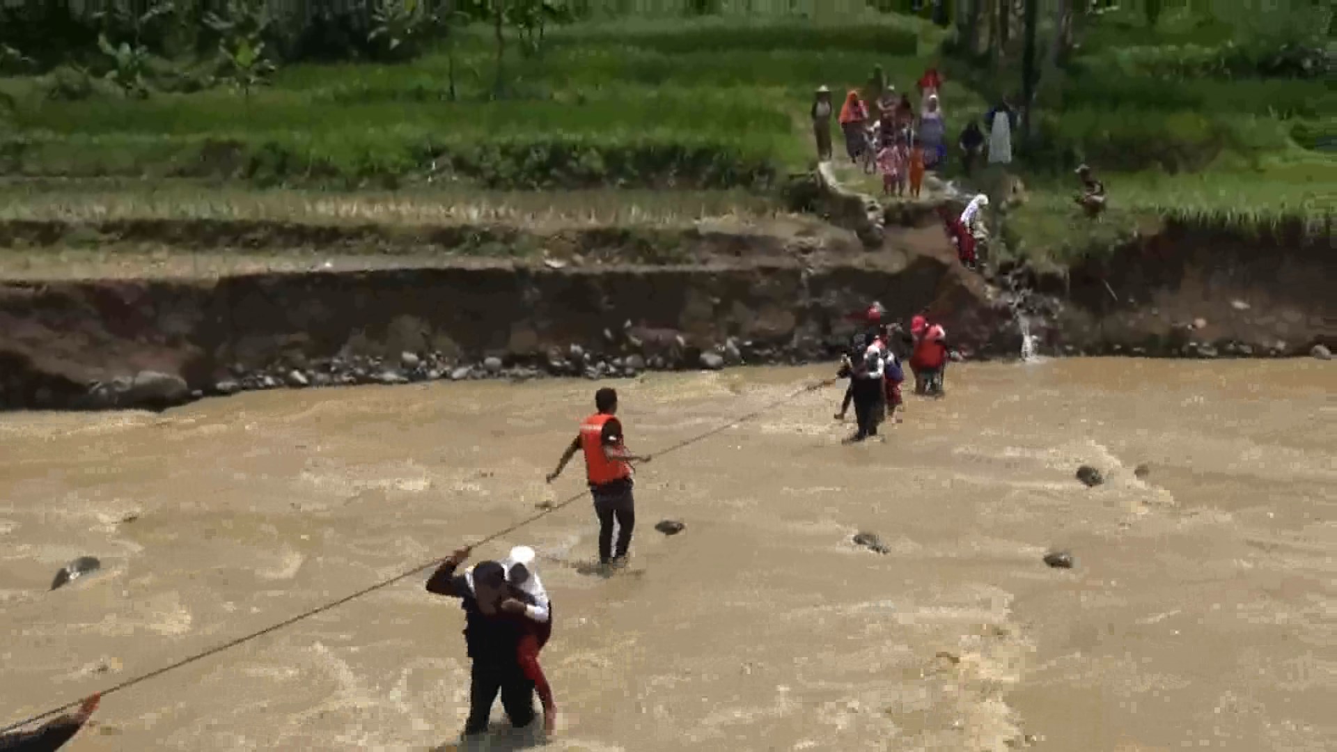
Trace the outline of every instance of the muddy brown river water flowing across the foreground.
<path fill-rule="evenodd" d="M 632 447 L 654 452 L 826 375 L 616 387 Z M 543 476 L 594 389 L 0 417 L 4 723 L 579 492 L 579 460 Z M 588 573 L 584 499 L 484 546 L 540 553 L 562 709 L 548 748 L 1337 748 L 1332 364 L 963 365 L 948 389 L 909 397 L 882 443 L 840 444 L 829 387 L 656 458 L 638 476 L 634 562 L 612 578 Z M 1080 464 L 1106 484 L 1078 483 Z M 664 518 L 686 530 L 655 533 Z M 861 530 L 889 553 L 853 546 Z M 1044 566 L 1051 547 L 1076 566 Z M 48 593 L 79 555 L 103 571 Z M 422 579 L 115 693 L 70 748 L 452 749 L 463 614 Z"/>

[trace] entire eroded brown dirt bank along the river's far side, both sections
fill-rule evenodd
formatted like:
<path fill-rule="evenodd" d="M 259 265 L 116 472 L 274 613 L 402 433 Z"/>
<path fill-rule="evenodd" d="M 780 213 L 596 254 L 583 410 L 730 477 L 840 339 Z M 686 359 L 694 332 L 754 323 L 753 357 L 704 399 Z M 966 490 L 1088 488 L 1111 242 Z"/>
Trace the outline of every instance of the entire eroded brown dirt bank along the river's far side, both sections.
<path fill-rule="evenodd" d="M 888 227 L 877 250 L 838 230 L 516 241 L 453 229 L 425 241 L 364 227 L 349 241 L 329 229 L 210 225 L 210 242 L 251 238 L 247 248 L 373 244 L 397 268 L 3 282 L 0 405 L 151 407 L 251 388 L 801 363 L 842 349 L 846 316 L 872 300 L 898 321 L 928 310 L 967 357 L 1019 353 L 1023 321 L 1050 355 L 1277 356 L 1337 344 L 1330 240 L 1312 233 L 1243 240 L 1171 226 L 1112 261 L 1023 278 L 1029 294 L 1008 294 L 961 269 L 939 227 L 906 223 L 919 226 Z M 59 245 L 70 230 L 0 236 Z M 167 225 L 98 230 L 119 241 L 163 233 L 205 242 Z M 443 253 L 479 237 L 545 253 Z M 614 262 L 666 253 L 682 261 Z"/>

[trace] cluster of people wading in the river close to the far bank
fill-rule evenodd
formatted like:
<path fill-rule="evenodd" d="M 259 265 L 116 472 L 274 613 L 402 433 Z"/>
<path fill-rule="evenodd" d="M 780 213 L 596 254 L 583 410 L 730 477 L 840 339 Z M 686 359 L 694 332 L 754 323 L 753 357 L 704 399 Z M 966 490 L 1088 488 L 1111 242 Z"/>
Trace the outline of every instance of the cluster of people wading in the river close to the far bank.
<path fill-rule="evenodd" d="M 877 302 L 854 317 L 865 326 L 856 333 L 853 347 L 841 360 L 837 372 L 837 377 L 849 379 L 849 387 L 836 419 L 844 420 L 850 404 L 854 405 L 857 430 L 846 439 L 848 443 L 877 436 L 884 420 L 900 423 L 897 412 L 905 404 L 901 396 L 905 373 L 897 353 L 906 344 L 904 337 L 897 337 L 902 329 L 898 324 L 885 322 L 885 309 Z M 929 322 L 924 316 L 916 316 L 910 321 L 908 344 L 915 393 L 943 396 L 943 372 L 949 360 L 947 329 Z"/>

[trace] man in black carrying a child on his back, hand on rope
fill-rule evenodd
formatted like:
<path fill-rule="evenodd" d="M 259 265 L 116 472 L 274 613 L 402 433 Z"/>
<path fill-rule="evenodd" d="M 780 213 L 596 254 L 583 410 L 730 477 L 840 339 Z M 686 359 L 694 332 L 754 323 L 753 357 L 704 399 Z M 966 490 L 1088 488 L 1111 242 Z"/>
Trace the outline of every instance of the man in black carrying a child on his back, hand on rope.
<path fill-rule="evenodd" d="M 551 622 L 551 606 L 541 610 L 533 595 L 507 581 L 507 567 L 501 562 L 484 561 L 465 571 L 456 570 L 469 557 L 469 549 L 459 549 L 441 562 L 427 581 L 428 593 L 460 598 L 464 607 L 464 644 L 469 666 L 469 719 L 464 736 L 477 736 L 488 729 L 488 717 L 497 693 L 511 725 L 524 728 L 533 723 L 533 692 L 541 682 L 545 708 L 552 707 L 552 694 L 537 662 L 539 634 L 535 625 Z M 524 648 L 525 638 L 531 637 Z M 521 656 L 525 656 L 521 658 Z M 537 676 L 537 681 L 532 676 Z M 550 727 L 556 719 L 547 719 Z"/>

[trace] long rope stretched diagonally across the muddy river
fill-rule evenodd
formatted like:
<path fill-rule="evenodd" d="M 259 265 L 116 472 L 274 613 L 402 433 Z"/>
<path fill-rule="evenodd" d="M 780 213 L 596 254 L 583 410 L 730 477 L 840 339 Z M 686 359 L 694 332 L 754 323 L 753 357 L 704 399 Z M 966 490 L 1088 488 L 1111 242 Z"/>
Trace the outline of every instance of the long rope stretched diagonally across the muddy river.
<path fill-rule="evenodd" d="M 754 417 L 757 417 L 757 416 L 759 416 L 759 415 L 762 415 L 762 413 L 765 413 L 765 412 L 767 412 L 767 411 L 770 411 L 770 409 L 773 409 L 773 408 L 775 408 L 775 407 L 778 407 L 781 404 L 785 404 L 785 403 L 793 400 L 794 397 L 798 397 L 798 396 L 805 395 L 808 392 L 814 392 L 814 391 L 821 389 L 824 387 L 829 387 L 833 383 L 836 383 L 836 379 L 825 379 L 825 380 L 817 381 L 814 384 L 808 384 L 805 387 L 800 387 L 798 389 L 794 389 L 793 392 L 785 395 L 783 397 L 781 397 L 778 400 L 774 400 L 774 401 L 770 401 L 766 405 L 763 405 L 763 407 L 761 407 L 758 409 L 754 409 L 753 412 L 749 412 L 746 415 L 741 415 L 738 417 L 734 417 L 729 423 L 725 423 L 725 424 L 721 424 L 721 426 L 718 426 L 715 428 L 711 428 L 710 431 L 706 431 L 705 434 L 698 434 L 697 436 L 693 436 L 693 438 L 682 440 L 682 442 L 678 442 L 677 444 L 673 444 L 671 447 L 667 447 L 664 450 L 660 450 L 659 452 L 655 452 L 652 456 L 662 456 L 662 455 L 666 455 L 666 454 L 675 452 L 678 450 L 690 447 L 690 446 L 695 444 L 697 442 L 702 442 L 702 440 L 709 439 L 710 436 L 714 436 L 715 434 L 722 434 L 723 431 L 727 431 L 727 430 L 733 428 L 734 426 L 738 426 L 739 423 L 746 423 L 746 421 L 749 421 L 749 420 L 751 420 L 751 419 L 754 419 Z M 488 535 L 487 538 L 484 538 L 484 539 L 473 543 L 469 547 L 471 549 L 476 549 L 476 547 L 479 547 L 479 546 L 481 546 L 484 543 L 491 543 L 492 541 L 496 541 L 497 538 L 501 538 L 504 535 L 509 535 L 511 533 L 515 533 L 516 530 L 520 530 L 521 527 L 524 527 L 527 525 L 531 525 L 531 523 L 533 523 L 533 522 L 536 522 L 536 521 L 539 521 L 539 519 L 541 519 L 541 518 L 544 518 L 544 516 L 547 516 L 547 515 L 550 515 L 550 514 L 552 514 L 552 512 L 555 512 L 555 511 L 558 511 L 558 510 L 560 510 L 563 507 L 570 506 L 571 503 L 574 503 L 574 502 L 576 502 L 579 499 L 583 499 L 583 498 L 586 498 L 586 492 L 584 491 L 582 491 L 579 494 L 575 494 L 571 498 L 564 499 L 564 500 L 562 500 L 562 502 L 559 502 L 556 504 L 552 504 L 551 507 L 547 507 L 543 511 L 532 514 L 532 515 L 521 519 L 520 522 L 516 522 L 515 525 L 512 525 L 512 526 L 509 526 L 507 529 L 499 530 L 499 531 Z M 362 595 L 366 595 L 369 593 L 374 593 L 374 591 L 381 590 L 384 587 L 389 587 L 390 585 L 394 585 L 396 582 L 400 582 L 402 579 L 408 579 L 409 577 L 413 577 L 413 575 L 420 574 L 420 573 L 422 573 L 422 571 L 425 571 L 428 569 L 439 566 L 443 561 L 444 561 L 444 557 L 439 557 L 439 558 L 435 558 L 435 559 L 432 559 L 429 562 L 420 563 L 420 565 L 414 566 L 413 569 L 409 569 L 409 570 L 405 570 L 405 571 L 402 571 L 400 574 L 396 574 L 394 577 L 392 577 L 389 579 L 382 579 L 382 581 L 380 581 L 380 582 L 377 582 L 374 585 L 369 585 L 369 586 L 358 590 L 357 593 L 350 593 L 350 594 L 344 595 L 342 598 L 340 598 L 337 601 L 330 601 L 328 603 L 324 603 L 324 605 L 317 606 L 314 609 L 310 609 L 308 612 L 302 612 L 302 613 L 299 613 L 299 614 L 297 614 L 294 617 L 286 618 L 286 620 L 283 620 L 283 621 L 281 621 L 278 624 L 266 626 L 265 629 L 261 629 L 258 632 L 253 632 L 253 633 L 246 634 L 243 637 L 238 637 L 235 640 L 230 640 L 230 641 L 223 642 L 221 645 L 215 645 L 214 648 L 210 648 L 209 650 L 205 650 L 202 653 L 195 653 L 195 654 L 193 654 L 190 657 L 186 657 L 186 658 L 182 658 L 182 660 L 176 661 L 175 664 L 166 665 L 166 666 L 163 666 L 160 669 L 151 670 L 151 672 L 148 672 L 146 674 L 140 674 L 140 676 L 136 676 L 134 678 L 127 678 L 126 681 L 122 681 L 120 684 L 112 685 L 112 686 L 102 690 L 102 696 L 106 697 L 107 694 L 111 694 L 114 692 L 120 692 L 122 689 L 128 689 L 128 688 L 136 685 L 136 684 L 140 684 L 143 681 L 148 681 L 150 678 L 159 677 L 159 676 L 162 676 L 164 673 L 176 670 L 176 669 L 187 666 L 190 664 L 194 664 L 195 661 L 205 660 L 205 658 L 207 658 L 210 656 L 215 656 L 218 653 L 222 653 L 223 650 L 229 650 L 229 649 L 235 648 L 238 645 L 250 642 L 251 640 L 257 640 L 257 638 L 263 637 L 266 634 L 270 634 L 273 632 L 278 632 L 279 629 L 283 629 L 285 626 L 291 626 L 291 625 L 294 625 L 294 624 L 297 624 L 299 621 L 303 621 L 303 620 L 308 620 L 310 617 L 322 614 L 322 613 L 325 613 L 325 612 L 328 612 L 330 609 L 334 609 L 334 607 L 342 606 L 344 603 L 348 603 L 349 601 L 354 601 L 354 599 L 361 598 Z M 82 697 L 79 700 L 74 700 L 71 702 L 66 702 L 64 705 L 60 705 L 59 708 L 51 708 L 49 711 L 44 711 L 41 713 L 37 713 L 36 716 L 31 716 L 31 717 L 27 717 L 27 719 L 24 719 L 21 721 L 12 723 L 12 724 L 9 724 L 9 725 L 7 725 L 4 728 L 0 728 L 0 735 L 8 733 L 11 731 L 23 728 L 23 727 L 33 724 L 33 723 L 37 723 L 37 721 L 40 721 L 43 719 L 48 719 L 51 716 L 55 716 L 56 713 L 62 713 L 64 711 L 68 711 L 68 709 L 79 705 L 80 702 L 83 702 Z"/>

